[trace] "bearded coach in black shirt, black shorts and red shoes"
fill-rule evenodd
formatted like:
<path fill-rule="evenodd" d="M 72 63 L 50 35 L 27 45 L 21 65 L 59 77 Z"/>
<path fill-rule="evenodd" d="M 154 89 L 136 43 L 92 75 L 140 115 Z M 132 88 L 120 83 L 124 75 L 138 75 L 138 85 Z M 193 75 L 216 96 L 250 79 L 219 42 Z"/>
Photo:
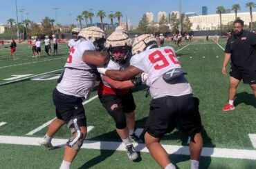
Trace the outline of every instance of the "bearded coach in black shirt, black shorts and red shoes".
<path fill-rule="evenodd" d="M 222 74 L 226 75 L 226 66 L 231 58 L 229 101 L 223 111 L 234 110 L 234 99 L 241 79 L 250 84 L 256 98 L 256 34 L 244 30 L 244 21 L 234 22 L 232 36 L 228 39 L 222 65 Z"/>

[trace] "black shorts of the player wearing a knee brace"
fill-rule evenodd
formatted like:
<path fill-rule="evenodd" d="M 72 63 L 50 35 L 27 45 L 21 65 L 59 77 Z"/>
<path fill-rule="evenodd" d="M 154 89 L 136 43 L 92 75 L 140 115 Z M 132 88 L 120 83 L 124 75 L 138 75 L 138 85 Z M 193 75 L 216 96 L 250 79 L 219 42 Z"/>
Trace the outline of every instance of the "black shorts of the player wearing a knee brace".
<path fill-rule="evenodd" d="M 77 121 L 78 126 L 86 126 L 86 116 L 84 106 L 82 105 L 82 98 L 65 95 L 55 88 L 55 90 L 53 90 L 53 103 L 58 119 L 68 123 L 71 119 L 80 117 L 80 119 L 83 120 Z"/>

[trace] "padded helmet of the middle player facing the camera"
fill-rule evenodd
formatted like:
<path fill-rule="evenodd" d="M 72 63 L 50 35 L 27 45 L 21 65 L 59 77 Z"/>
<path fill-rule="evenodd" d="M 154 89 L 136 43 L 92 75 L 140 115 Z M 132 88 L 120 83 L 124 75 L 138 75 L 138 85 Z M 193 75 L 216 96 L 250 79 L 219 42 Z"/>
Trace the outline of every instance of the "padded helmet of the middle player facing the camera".
<path fill-rule="evenodd" d="M 131 53 L 131 39 L 121 31 L 114 31 L 106 41 L 106 48 L 111 59 L 117 63 L 125 63 L 125 59 Z M 120 57 L 113 56 L 113 52 L 124 52 Z"/>

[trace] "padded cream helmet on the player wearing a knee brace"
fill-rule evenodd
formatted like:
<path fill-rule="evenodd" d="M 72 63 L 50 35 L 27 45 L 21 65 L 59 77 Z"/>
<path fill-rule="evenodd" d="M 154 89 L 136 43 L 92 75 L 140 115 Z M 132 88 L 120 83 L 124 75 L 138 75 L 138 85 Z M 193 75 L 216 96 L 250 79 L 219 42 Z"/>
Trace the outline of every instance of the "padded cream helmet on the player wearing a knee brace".
<path fill-rule="evenodd" d="M 91 41 L 95 46 L 96 50 L 104 50 L 104 43 L 106 41 L 106 34 L 104 31 L 98 27 L 91 26 L 88 28 L 83 28 L 78 37 L 83 37 L 86 41 Z"/>

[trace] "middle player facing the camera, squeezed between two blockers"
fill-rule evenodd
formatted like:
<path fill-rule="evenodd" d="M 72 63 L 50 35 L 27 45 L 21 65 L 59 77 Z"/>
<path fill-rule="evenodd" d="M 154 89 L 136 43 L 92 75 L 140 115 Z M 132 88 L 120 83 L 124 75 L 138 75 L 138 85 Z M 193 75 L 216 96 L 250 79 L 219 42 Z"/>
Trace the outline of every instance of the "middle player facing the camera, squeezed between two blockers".
<path fill-rule="evenodd" d="M 120 30 L 114 31 L 107 38 L 106 48 L 111 59 L 104 65 L 104 68 L 122 70 L 129 66 L 131 39 L 127 34 Z M 131 94 L 131 87 L 140 85 L 141 82 L 140 77 L 120 83 L 102 76 L 98 87 L 100 102 L 115 121 L 116 132 L 125 143 L 129 159 L 133 161 L 138 158 L 138 154 L 130 140 L 140 142 L 140 139 L 134 133 L 136 105 Z"/>

